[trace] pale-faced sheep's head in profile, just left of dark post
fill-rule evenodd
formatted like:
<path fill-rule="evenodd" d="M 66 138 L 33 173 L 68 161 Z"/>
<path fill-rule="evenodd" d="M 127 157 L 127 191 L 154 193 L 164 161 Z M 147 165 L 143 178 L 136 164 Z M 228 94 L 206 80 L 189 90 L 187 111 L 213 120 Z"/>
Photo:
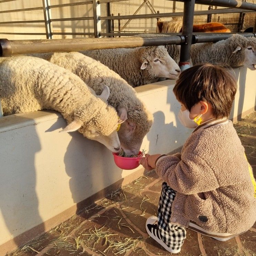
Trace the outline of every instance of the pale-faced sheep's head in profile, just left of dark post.
<path fill-rule="evenodd" d="M 176 79 L 181 70 L 163 45 L 144 48 L 141 69 L 152 77 Z"/>

